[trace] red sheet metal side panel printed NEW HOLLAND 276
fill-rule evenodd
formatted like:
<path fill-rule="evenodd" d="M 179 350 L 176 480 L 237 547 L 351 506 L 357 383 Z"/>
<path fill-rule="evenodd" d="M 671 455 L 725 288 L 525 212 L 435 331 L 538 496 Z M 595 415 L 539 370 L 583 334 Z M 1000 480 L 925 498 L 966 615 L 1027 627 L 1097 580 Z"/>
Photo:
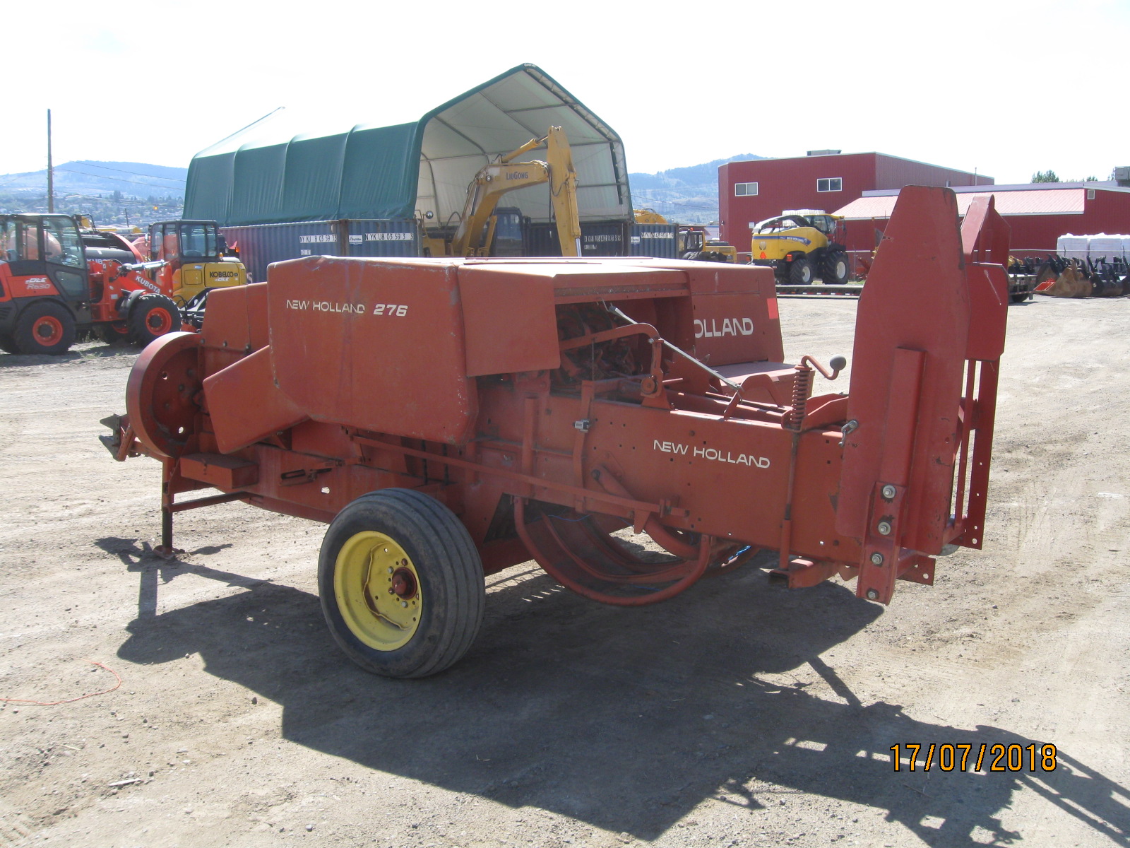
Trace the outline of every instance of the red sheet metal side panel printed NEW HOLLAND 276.
<path fill-rule="evenodd" d="M 278 387 L 315 421 L 449 444 L 478 409 L 454 262 L 310 257 L 271 266 Z"/>

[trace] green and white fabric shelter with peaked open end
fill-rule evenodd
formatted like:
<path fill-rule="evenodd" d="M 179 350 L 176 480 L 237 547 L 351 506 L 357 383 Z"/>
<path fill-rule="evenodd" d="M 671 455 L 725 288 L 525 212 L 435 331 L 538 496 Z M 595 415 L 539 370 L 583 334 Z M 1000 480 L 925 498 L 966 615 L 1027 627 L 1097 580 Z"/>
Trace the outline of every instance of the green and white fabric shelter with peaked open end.
<path fill-rule="evenodd" d="M 619 136 L 548 73 L 520 64 L 419 120 L 388 127 L 306 127 L 272 115 L 197 154 L 184 215 L 220 225 L 339 218 L 458 219 L 484 165 L 565 130 L 577 172 L 582 220 L 632 220 Z M 528 158 L 540 158 L 531 150 Z M 544 156 L 542 156 L 544 157 Z M 551 218 L 549 188 L 507 196 L 533 220 Z"/>

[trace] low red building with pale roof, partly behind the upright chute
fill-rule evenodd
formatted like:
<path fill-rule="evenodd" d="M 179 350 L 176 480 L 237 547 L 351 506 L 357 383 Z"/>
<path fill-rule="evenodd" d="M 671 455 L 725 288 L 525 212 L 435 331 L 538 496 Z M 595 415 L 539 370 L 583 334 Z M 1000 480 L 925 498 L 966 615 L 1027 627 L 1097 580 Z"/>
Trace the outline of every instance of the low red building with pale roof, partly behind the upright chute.
<path fill-rule="evenodd" d="M 1012 228 L 1016 257 L 1055 252 L 1061 235 L 1130 233 L 1130 188 L 1115 182 L 1057 182 L 955 188 L 962 215 L 975 194 L 991 193 Z M 834 211 L 845 219 L 849 250 L 871 250 L 886 228 L 898 190 L 868 192 Z"/>

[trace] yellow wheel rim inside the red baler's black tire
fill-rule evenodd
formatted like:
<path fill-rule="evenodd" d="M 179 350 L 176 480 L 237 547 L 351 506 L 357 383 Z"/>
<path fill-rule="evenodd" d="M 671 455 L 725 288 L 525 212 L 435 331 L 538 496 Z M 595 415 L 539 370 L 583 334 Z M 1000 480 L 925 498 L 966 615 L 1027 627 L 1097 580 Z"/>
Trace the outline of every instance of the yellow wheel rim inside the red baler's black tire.
<path fill-rule="evenodd" d="M 374 650 L 395 650 L 416 634 L 423 611 L 419 586 L 411 559 L 383 533 L 354 534 L 338 552 L 338 609 L 349 631 Z"/>

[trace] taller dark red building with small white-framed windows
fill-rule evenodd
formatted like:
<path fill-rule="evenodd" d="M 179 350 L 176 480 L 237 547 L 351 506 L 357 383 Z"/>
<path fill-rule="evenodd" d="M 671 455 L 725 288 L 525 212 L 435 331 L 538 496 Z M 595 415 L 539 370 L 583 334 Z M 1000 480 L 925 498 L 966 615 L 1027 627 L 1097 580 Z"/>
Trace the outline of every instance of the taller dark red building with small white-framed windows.
<path fill-rule="evenodd" d="M 718 172 L 722 237 L 749 250 L 750 225 L 785 209 L 833 211 L 877 189 L 992 185 L 991 176 L 883 153 L 812 150 L 808 156 L 731 162 Z"/>

